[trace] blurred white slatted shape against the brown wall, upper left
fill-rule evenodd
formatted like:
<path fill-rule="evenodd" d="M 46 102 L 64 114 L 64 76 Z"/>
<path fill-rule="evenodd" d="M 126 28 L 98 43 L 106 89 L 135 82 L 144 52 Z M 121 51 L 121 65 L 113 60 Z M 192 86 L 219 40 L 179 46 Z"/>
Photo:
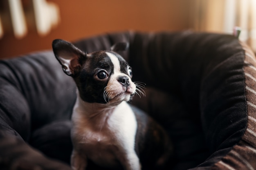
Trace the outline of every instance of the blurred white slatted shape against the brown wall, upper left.
<path fill-rule="evenodd" d="M 12 31 L 18 39 L 36 28 L 38 35 L 47 35 L 60 22 L 59 8 L 46 0 L 3 0 L 0 8 L 0 38 Z M 24 7 L 25 5 L 25 7 Z M 24 10 L 26 9 L 26 10 Z"/>

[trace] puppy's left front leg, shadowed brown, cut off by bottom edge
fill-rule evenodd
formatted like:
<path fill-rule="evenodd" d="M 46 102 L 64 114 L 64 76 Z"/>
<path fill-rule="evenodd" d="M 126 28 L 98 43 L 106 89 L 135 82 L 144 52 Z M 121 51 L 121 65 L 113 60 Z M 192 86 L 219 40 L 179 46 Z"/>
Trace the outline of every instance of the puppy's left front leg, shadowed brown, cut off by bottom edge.
<path fill-rule="evenodd" d="M 73 150 L 71 155 L 71 167 L 73 170 L 85 170 L 87 166 L 87 158 L 76 150 Z"/>

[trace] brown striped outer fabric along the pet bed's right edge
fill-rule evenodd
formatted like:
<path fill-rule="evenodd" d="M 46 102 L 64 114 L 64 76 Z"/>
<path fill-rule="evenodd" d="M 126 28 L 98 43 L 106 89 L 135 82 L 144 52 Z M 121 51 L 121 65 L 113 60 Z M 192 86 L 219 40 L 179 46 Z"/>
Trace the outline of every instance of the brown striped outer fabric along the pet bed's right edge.
<path fill-rule="evenodd" d="M 212 169 L 255 170 L 256 169 L 256 57 L 252 50 L 245 50 L 245 95 L 247 100 L 247 129 L 242 139 Z"/>

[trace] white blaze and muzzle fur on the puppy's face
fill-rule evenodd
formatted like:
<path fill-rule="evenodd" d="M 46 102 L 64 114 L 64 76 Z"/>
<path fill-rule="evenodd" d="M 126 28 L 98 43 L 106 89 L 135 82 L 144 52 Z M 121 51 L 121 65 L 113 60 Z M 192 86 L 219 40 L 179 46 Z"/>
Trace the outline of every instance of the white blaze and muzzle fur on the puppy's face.
<path fill-rule="evenodd" d="M 136 86 L 127 74 L 124 74 L 121 72 L 120 62 L 119 62 L 118 58 L 111 52 L 106 52 L 106 54 L 111 59 L 113 65 L 114 65 L 114 71 L 113 71 L 112 75 L 110 76 L 110 78 L 108 80 L 108 85 L 106 87 L 106 92 L 108 93 L 108 98 L 113 99 L 113 98 L 117 97 L 117 100 L 128 101 L 128 100 L 130 100 L 130 94 L 125 93 L 125 92 L 129 89 L 130 92 L 135 93 Z M 128 77 L 130 86 L 127 87 L 127 89 L 126 89 L 126 87 L 121 85 L 121 83 L 119 83 L 117 81 L 117 78 L 119 76 Z"/>

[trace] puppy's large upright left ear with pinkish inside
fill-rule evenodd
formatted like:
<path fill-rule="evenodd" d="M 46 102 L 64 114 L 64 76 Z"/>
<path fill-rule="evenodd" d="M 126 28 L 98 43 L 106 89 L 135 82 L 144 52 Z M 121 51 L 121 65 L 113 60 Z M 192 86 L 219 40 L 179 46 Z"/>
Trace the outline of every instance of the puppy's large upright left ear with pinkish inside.
<path fill-rule="evenodd" d="M 56 59 L 61 63 L 63 71 L 67 75 L 75 76 L 80 71 L 86 53 L 62 39 L 52 41 L 52 49 Z"/>

